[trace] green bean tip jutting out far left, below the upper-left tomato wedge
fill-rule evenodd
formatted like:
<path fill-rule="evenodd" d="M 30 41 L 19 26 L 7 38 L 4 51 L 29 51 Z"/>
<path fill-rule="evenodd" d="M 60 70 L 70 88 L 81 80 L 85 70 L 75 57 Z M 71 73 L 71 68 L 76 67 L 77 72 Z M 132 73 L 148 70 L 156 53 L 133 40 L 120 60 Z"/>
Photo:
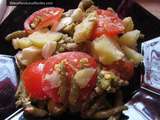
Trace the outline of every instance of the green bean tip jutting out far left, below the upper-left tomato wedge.
<path fill-rule="evenodd" d="M 5 40 L 11 41 L 12 39 L 26 37 L 27 35 L 28 34 L 24 30 L 18 30 L 18 31 L 8 34 L 5 37 Z"/>

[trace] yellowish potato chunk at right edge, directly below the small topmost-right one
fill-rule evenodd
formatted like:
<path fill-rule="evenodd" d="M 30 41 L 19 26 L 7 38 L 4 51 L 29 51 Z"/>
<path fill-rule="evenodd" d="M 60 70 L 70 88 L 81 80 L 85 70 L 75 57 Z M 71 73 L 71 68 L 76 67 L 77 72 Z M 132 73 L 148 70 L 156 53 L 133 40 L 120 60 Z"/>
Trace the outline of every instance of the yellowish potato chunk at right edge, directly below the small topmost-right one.
<path fill-rule="evenodd" d="M 140 36 L 139 30 L 133 30 L 130 32 L 126 32 L 120 37 L 119 43 L 122 45 L 126 45 L 128 47 L 131 47 L 131 48 L 136 48 L 137 40 L 139 36 Z"/>

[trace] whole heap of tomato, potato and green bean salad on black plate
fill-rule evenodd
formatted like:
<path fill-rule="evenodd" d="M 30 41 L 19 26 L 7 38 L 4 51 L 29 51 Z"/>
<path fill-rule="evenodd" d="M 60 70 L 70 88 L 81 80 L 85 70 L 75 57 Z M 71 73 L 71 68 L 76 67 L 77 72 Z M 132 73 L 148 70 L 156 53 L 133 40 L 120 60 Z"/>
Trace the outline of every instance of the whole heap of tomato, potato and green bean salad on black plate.
<path fill-rule="evenodd" d="M 6 36 L 21 71 L 17 106 L 35 117 L 78 113 L 119 119 L 127 109 L 122 88 L 143 56 L 131 17 L 82 0 L 76 9 L 48 7 L 32 13 L 24 30 Z"/>

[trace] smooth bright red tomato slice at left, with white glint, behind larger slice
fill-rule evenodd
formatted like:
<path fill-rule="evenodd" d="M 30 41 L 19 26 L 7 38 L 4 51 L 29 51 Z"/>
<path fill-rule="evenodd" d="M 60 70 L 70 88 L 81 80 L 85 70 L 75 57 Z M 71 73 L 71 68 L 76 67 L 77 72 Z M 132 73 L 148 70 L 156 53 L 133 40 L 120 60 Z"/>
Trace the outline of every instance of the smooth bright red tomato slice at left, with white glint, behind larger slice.
<path fill-rule="evenodd" d="M 27 93 L 31 98 L 43 100 L 46 98 L 42 90 L 42 72 L 44 61 L 37 61 L 27 66 L 22 73 L 22 80 Z"/>

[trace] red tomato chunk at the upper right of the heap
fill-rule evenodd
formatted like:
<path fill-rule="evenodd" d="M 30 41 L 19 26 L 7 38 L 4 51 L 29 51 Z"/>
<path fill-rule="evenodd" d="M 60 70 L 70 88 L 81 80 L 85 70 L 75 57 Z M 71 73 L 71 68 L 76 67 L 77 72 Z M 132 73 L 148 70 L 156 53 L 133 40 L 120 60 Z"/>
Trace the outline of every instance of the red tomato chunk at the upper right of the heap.
<path fill-rule="evenodd" d="M 97 14 L 98 22 L 93 32 L 93 39 L 103 34 L 114 36 L 124 32 L 122 20 L 118 17 L 117 13 L 112 10 L 98 9 Z"/>

